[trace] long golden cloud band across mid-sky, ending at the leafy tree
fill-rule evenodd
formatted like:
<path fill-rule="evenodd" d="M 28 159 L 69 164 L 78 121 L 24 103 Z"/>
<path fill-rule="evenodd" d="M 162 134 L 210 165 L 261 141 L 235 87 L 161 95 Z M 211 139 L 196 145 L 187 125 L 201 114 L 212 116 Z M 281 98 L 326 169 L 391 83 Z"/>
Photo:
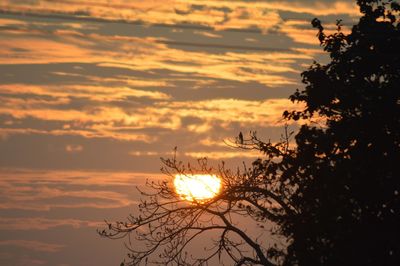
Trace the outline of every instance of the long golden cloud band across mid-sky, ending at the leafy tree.
<path fill-rule="evenodd" d="M 188 130 L 193 133 L 212 131 L 216 121 L 221 126 L 241 123 L 243 126 L 257 124 L 260 127 L 282 126 L 283 111 L 300 108 L 287 99 L 267 99 L 250 101 L 238 99 L 215 99 L 204 101 L 160 101 L 152 105 L 139 106 L 130 110 L 97 106 L 75 109 L 51 109 L 48 106 L 32 106 L 25 101 L 4 102 L 0 114 L 9 115 L 14 120 L 35 118 L 41 121 L 57 121 L 58 129 L 1 128 L 3 136 L 12 134 L 47 134 L 54 136 L 77 135 L 85 138 L 111 138 L 154 143 L 159 137 L 154 134 L 134 132 L 145 128 L 165 128 L 173 131 Z M 195 117 L 199 122 L 186 126 L 182 121 Z M 69 147 L 69 148 L 68 148 Z M 78 151 L 72 146 L 67 151 Z"/>

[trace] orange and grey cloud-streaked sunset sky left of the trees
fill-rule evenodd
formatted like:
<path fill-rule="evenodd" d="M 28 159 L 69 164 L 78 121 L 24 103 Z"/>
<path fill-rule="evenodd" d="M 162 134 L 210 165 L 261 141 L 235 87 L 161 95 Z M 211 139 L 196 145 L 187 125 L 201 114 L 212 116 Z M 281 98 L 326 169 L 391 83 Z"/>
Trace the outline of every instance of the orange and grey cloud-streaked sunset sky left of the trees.
<path fill-rule="evenodd" d="M 134 212 L 160 157 L 234 168 L 278 141 L 344 0 L 0 1 L 0 264 L 118 265 L 103 220 Z M 289 129 L 296 130 L 290 123 Z"/>

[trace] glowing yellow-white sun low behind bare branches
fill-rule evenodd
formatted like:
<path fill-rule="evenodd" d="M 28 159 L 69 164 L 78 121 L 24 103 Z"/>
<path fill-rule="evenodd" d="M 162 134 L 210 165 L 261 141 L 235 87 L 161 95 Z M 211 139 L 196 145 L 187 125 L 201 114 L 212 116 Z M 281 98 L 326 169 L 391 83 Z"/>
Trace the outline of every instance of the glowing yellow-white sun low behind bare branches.
<path fill-rule="evenodd" d="M 218 194 L 221 179 L 216 175 L 177 174 L 174 179 L 176 193 L 187 201 L 206 201 Z"/>

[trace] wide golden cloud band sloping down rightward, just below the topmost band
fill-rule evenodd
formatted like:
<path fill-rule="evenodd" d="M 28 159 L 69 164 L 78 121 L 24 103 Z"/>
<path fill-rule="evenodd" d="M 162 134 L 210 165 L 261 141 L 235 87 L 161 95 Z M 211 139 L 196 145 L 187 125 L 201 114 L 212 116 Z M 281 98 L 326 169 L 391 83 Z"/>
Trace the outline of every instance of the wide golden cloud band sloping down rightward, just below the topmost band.
<path fill-rule="evenodd" d="M 124 37 L 121 39 L 121 37 L 116 38 L 92 34 L 86 40 L 90 40 L 92 44 L 81 45 L 71 42 L 70 39 L 64 37 L 60 41 L 40 40 L 35 37 L 30 40 L 32 46 L 26 49 L 26 45 L 23 42 L 18 39 L 13 40 L 12 36 L 10 36 L 7 39 L 0 40 L 0 45 L 4 47 L 2 50 L 3 54 L 0 52 L 0 63 L 8 64 L 10 59 L 12 59 L 13 63 L 20 64 L 74 61 L 85 63 L 97 62 L 100 66 L 118 66 L 136 71 L 165 69 L 176 73 L 197 74 L 207 78 L 240 82 L 255 81 L 272 87 L 294 84 L 295 81 L 288 78 L 286 74 L 299 72 L 284 61 L 279 62 L 278 60 L 282 56 L 282 52 L 279 53 L 279 51 L 274 51 L 274 49 L 272 51 L 259 51 L 255 53 L 260 57 L 269 57 L 268 61 L 262 63 L 252 61 L 255 57 L 251 55 L 247 59 L 245 59 L 246 57 L 242 57 L 241 61 L 233 62 L 232 59 L 234 58 L 231 58 L 231 55 L 234 53 L 213 56 L 206 52 L 173 49 L 169 45 L 173 45 L 174 42 L 170 43 L 169 41 L 165 42 L 154 38 L 140 39 Z M 126 42 L 134 43 L 134 45 L 127 46 Z M 94 43 L 108 43 L 108 47 L 93 47 Z M 231 50 L 229 47 L 221 47 Z M 23 56 L 15 52 L 18 49 L 26 50 L 23 52 Z M 265 56 L 265 54 L 270 55 Z M 292 59 L 296 58 L 296 56 L 288 57 Z M 178 59 L 181 60 L 183 58 L 190 58 L 190 60 L 182 64 Z M 277 60 L 274 60 L 275 58 Z M 249 71 L 250 69 L 251 71 Z M 102 80 L 102 82 L 107 82 L 107 80 Z M 92 86 L 88 89 L 95 90 L 96 87 Z M 137 89 L 135 92 L 133 88 L 130 88 L 130 91 L 126 89 L 123 95 L 133 93 L 149 98 L 168 97 L 165 94 L 156 94 L 156 92 L 144 93 L 142 90 Z M 101 96 L 102 94 L 99 95 L 99 97 Z"/>

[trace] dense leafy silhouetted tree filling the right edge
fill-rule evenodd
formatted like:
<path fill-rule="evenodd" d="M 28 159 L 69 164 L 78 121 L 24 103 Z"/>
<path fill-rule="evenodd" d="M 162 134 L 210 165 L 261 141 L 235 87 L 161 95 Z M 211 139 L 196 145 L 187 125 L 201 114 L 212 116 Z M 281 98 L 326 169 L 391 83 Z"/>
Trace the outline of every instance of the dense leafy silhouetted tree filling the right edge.
<path fill-rule="evenodd" d="M 350 34 L 318 37 L 330 54 L 302 73 L 306 104 L 290 119 L 304 125 L 288 158 L 297 210 L 282 220 L 291 239 L 286 265 L 400 265 L 400 6 L 359 0 L 363 16 Z"/>

